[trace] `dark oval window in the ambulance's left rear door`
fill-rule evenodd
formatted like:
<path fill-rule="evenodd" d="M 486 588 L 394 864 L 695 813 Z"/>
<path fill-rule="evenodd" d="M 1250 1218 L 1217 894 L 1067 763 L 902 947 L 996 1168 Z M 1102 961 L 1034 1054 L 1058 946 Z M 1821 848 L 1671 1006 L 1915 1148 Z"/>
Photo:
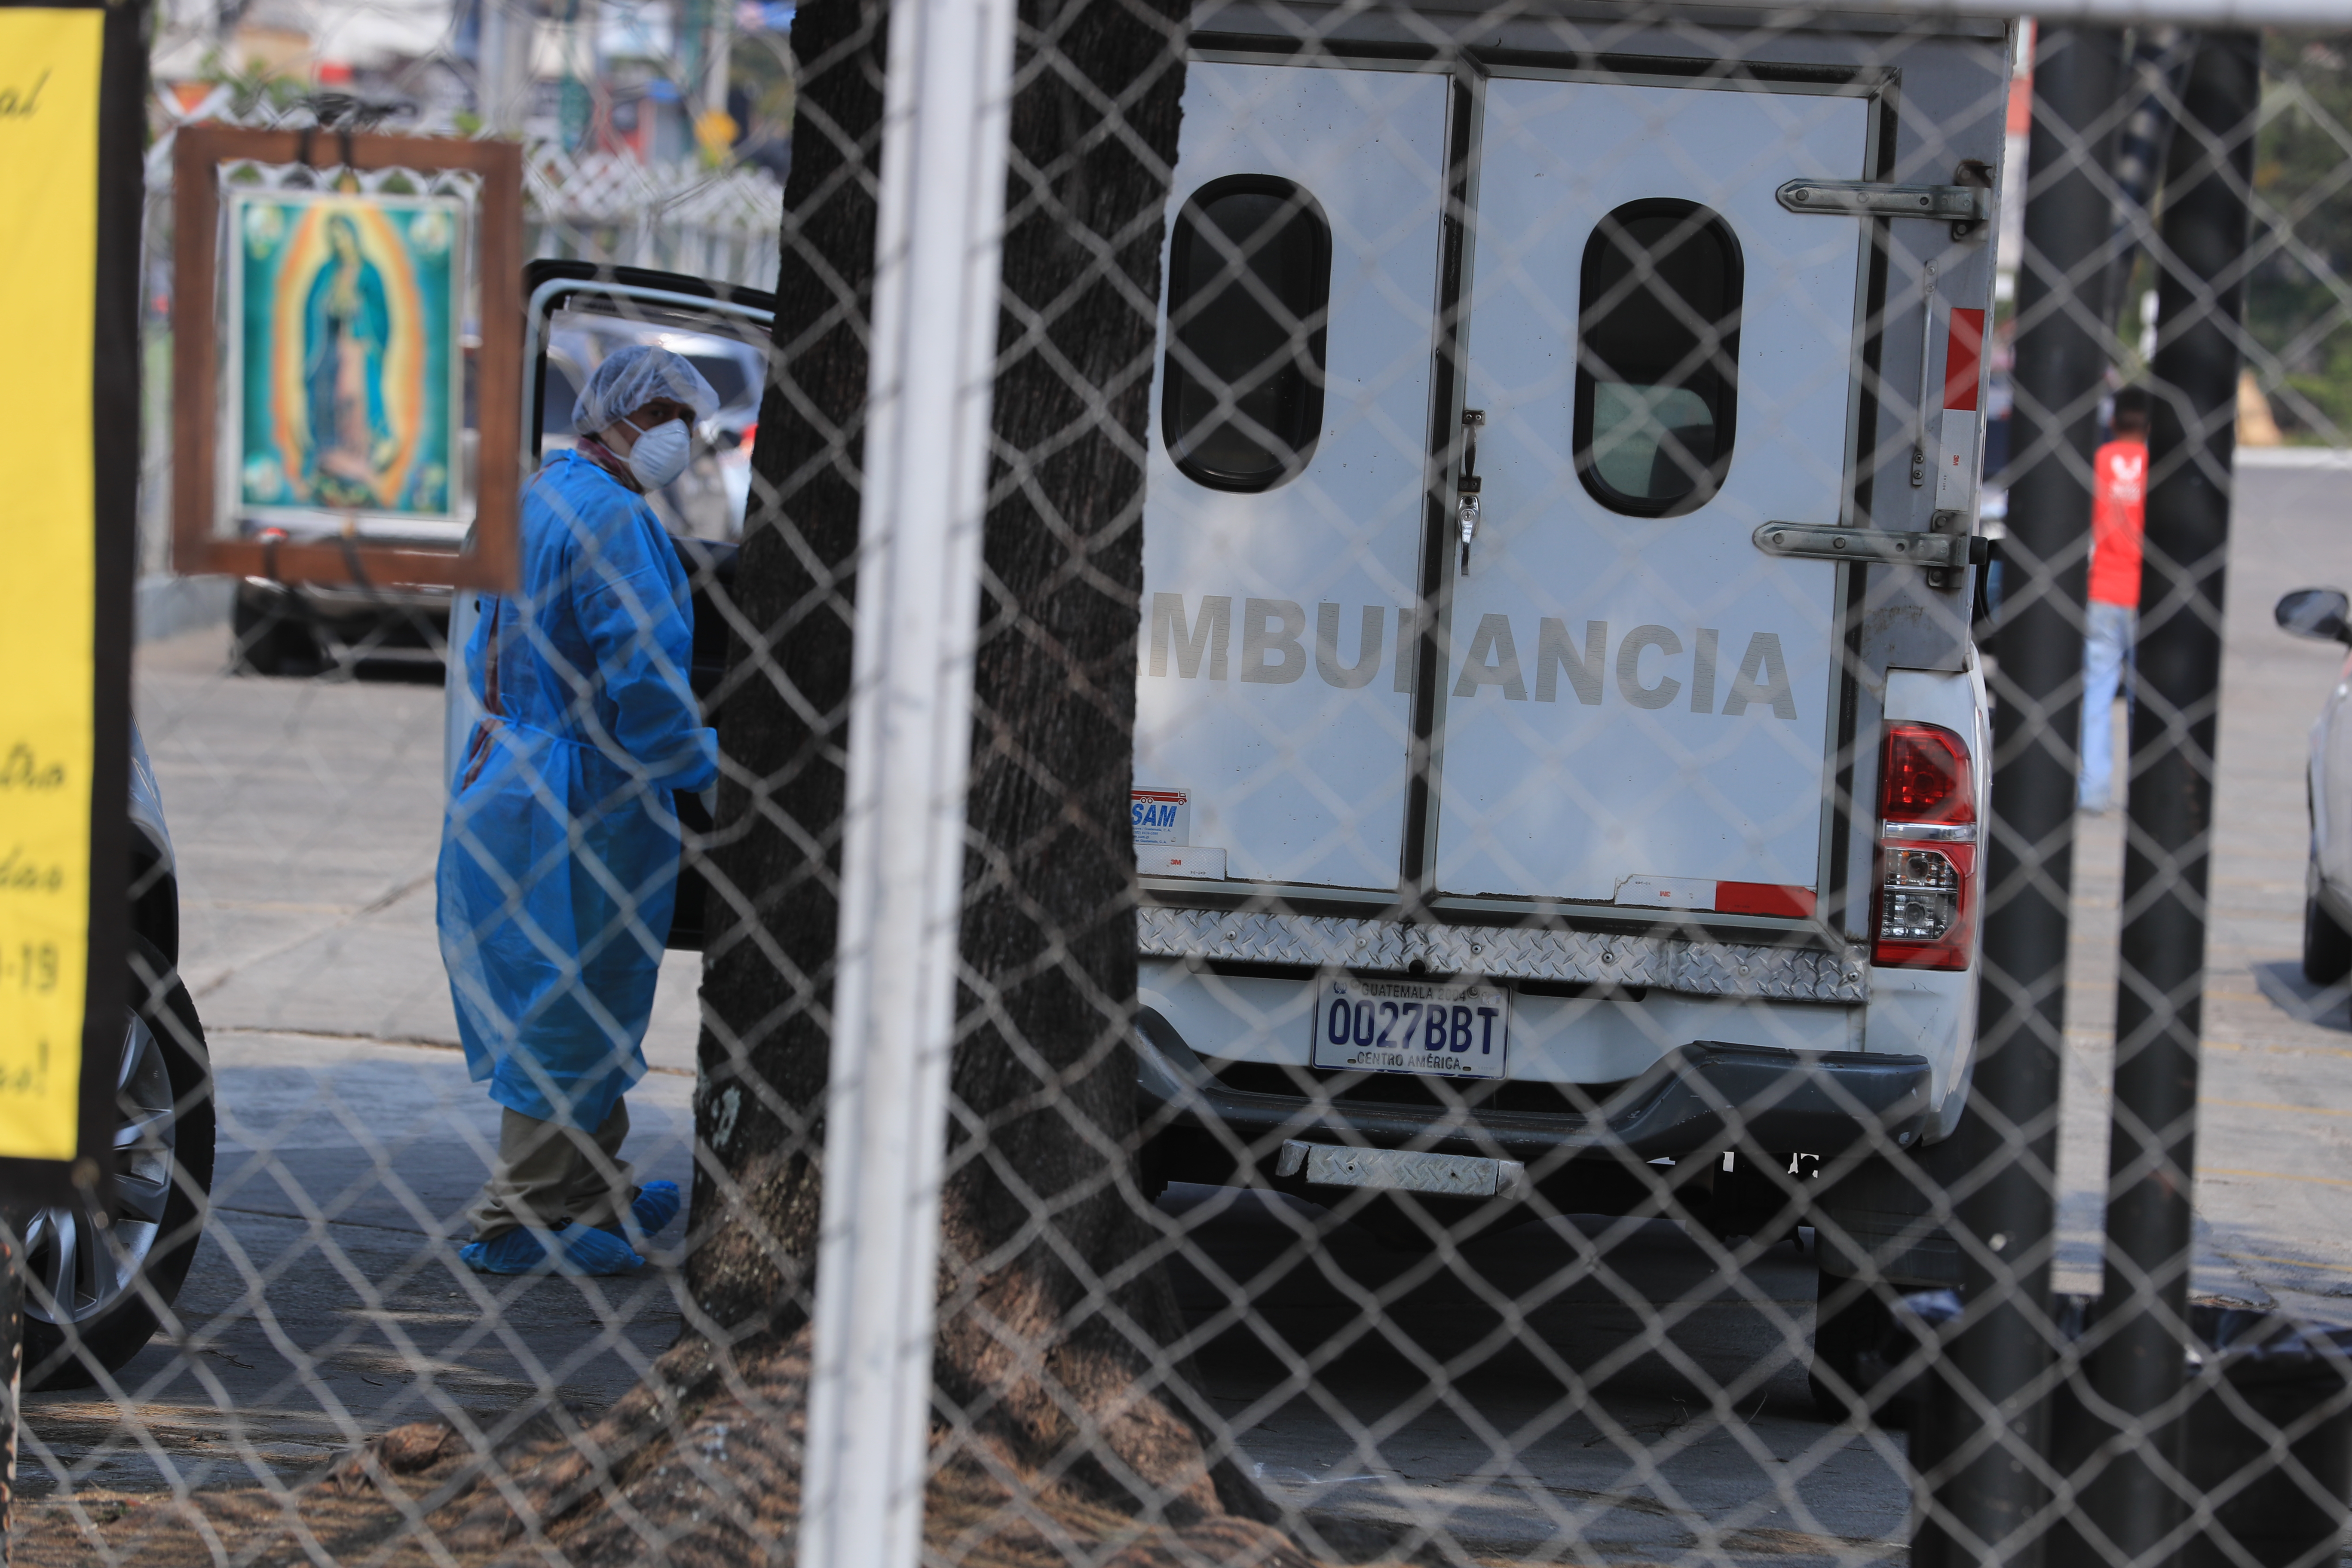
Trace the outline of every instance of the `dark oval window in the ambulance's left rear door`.
<path fill-rule="evenodd" d="M 1322 435 L 1331 226 L 1301 186 L 1214 179 L 1176 214 L 1160 437 L 1197 484 L 1272 489 Z"/>

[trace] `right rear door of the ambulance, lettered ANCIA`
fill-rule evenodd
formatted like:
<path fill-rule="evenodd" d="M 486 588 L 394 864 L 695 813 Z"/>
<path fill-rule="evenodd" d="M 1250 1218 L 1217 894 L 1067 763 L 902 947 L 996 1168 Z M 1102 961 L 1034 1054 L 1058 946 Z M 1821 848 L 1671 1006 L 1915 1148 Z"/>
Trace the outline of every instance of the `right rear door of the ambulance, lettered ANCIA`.
<path fill-rule="evenodd" d="M 1430 891 L 1806 917 L 1828 879 L 1851 522 L 1858 87 L 1498 71 L 1463 339 Z M 1475 456 L 1470 456 L 1475 447 Z"/>

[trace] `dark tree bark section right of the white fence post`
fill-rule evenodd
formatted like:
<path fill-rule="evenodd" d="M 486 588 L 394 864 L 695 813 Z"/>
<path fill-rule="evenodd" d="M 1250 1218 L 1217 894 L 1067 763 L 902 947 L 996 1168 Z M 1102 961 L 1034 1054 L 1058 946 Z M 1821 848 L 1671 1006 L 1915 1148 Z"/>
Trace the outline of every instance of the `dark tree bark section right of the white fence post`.
<path fill-rule="evenodd" d="M 1160 1241 L 1131 1164 L 1129 780 L 1183 7 L 1021 24 L 936 1385 L 983 1439 L 1183 1523 L 1218 1486 L 1162 1349 L 1174 1293 L 1127 1272 Z"/>

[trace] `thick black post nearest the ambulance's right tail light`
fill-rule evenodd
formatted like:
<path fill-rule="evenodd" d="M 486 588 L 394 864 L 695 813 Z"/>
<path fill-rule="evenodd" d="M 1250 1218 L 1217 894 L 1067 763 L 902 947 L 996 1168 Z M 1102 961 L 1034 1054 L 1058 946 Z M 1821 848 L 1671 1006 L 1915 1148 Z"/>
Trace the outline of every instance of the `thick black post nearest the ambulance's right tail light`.
<path fill-rule="evenodd" d="M 1957 1194 L 1966 1319 L 1915 1462 L 1933 1502 L 1915 1561 L 2037 1563 L 2046 1500 L 2051 1234 L 2082 710 L 2084 538 L 2107 334 L 2103 176 L 2122 33 L 2046 28 L 2034 49 L 2018 268 L 2018 477 L 2009 489 L 1992 715 L 1985 969 L 1971 1091 L 1973 1187 Z M 2091 294 L 2091 296 L 2086 296 Z"/>

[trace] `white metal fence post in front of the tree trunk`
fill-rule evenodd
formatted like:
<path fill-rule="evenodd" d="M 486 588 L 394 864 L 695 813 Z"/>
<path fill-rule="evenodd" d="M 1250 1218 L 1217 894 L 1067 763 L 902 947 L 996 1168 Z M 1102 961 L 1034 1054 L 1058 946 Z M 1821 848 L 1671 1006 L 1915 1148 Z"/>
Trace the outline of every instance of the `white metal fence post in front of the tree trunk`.
<path fill-rule="evenodd" d="M 802 1568 L 922 1552 L 1011 56 L 891 5 Z"/>

